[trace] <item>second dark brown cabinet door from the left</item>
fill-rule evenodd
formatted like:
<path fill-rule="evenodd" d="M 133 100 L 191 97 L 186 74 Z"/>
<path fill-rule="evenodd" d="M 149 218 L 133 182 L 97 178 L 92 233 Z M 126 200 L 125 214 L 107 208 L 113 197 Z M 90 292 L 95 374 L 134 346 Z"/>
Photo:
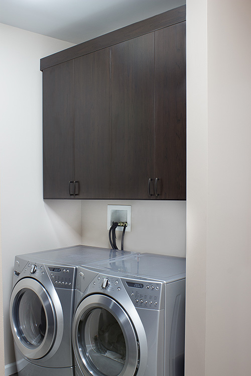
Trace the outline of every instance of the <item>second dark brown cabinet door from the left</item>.
<path fill-rule="evenodd" d="M 74 60 L 75 179 L 79 199 L 110 197 L 110 49 Z"/>

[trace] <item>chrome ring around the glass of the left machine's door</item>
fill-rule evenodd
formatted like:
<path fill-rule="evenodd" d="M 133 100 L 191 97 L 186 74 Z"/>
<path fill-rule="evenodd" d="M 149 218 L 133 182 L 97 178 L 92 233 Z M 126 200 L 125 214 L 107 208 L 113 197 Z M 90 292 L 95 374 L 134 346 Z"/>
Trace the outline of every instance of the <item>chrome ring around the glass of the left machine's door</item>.
<path fill-rule="evenodd" d="M 32 345 L 29 346 L 28 343 L 22 341 L 19 334 L 19 328 L 17 328 L 15 318 L 16 304 L 22 292 L 25 292 L 25 290 L 31 290 L 39 297 L 39 300 L 41 301 L 45 311 L 47 324 L 46 332 L 42 343 L 37 347 L 34 347 Z M 39 281 L 30 277 L 26 277 L 18 281 L 11 295 L 10 320 L 14 341 L 24 356 L 30 359 L 40 359 L 49 352 L 55 341 L 57 320 L 52 300 L 45 288 L 39 283 Z"/>

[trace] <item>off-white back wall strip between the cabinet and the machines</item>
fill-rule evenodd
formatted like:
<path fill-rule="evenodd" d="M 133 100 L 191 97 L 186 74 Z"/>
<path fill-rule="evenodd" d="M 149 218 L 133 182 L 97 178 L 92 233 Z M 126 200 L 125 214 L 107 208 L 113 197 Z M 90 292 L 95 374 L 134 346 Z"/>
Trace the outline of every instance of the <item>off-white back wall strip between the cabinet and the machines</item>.
<path fill-rule="evenodd" d="M 109 247 L 107 205 L 132 206 L 132 231 L 124 236 L 124 249 L 185 256 L 185 201 L 83 201 L 82 243 Z M 116 231 L 120 248 L 121 232 Z"/>

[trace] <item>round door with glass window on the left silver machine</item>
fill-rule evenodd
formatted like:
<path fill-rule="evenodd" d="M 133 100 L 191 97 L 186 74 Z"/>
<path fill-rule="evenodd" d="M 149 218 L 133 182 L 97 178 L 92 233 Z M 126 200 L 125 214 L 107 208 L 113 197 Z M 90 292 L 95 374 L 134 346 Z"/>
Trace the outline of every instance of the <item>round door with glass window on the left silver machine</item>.
<path fill-rule="evenodd" d="M 22 354 L 31 359 L 44 357 L 56 335 L 56 314 L 45 288 L 34 278 L 21 279 L 10 302 L 14 341 Z"/>

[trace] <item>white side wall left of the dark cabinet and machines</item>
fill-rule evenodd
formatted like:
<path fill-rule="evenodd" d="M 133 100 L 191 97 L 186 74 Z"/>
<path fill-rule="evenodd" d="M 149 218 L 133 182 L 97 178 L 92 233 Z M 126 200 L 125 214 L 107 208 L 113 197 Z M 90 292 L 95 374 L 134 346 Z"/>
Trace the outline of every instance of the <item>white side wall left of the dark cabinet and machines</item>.
<path fill-rule="evenodd" d="M 6 364 L 11 364 L 15 361 L 9 325 L 14 256 L 81 243 L 81 205 L 44 202 L 42 187 L 40 58 L 71 44 L 3 24 L 0 33 L 3 298 Z"/>

